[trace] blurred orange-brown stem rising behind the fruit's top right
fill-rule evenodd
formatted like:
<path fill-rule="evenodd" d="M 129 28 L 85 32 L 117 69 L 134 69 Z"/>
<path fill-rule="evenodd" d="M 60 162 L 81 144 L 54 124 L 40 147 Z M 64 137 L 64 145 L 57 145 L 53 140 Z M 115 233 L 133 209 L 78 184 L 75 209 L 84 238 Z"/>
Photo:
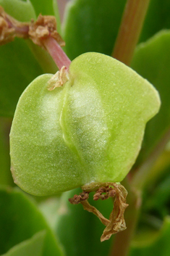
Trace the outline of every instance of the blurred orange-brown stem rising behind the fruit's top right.
<path fill-rule="evenodd" d="M 127 0 L 112 56 L 130 65 L 150 0 Z"/>

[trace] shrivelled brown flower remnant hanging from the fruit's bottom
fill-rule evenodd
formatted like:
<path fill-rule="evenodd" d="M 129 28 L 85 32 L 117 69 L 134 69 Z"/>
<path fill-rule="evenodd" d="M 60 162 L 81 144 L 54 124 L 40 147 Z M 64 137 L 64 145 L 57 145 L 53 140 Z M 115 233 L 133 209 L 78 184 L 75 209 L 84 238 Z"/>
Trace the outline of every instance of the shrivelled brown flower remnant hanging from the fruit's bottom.
<path fill-rule="evenodd" d="M 115 197 L 114 209 L 111 212 L 109 220 L 106 219 L 95 207 L 89 204 L 89 193 L 90 191 L 83 191 L 80 195 L 75 195 L 73 198 L 70 198 L 69 202 L 73 205 L 81 203 L 85 210 L 93 212 L 106 226 L 101 236 L 101 241 L 108 240 L 112 234 L 116 234 L 119 231 L 126 229 L 124 210 L 128 205 L 126 204 L 127 190 L 124 189 L 124 186 L 116 183 L 106 183 L 105 186 L 101 186 L 97 191 L 95 191 L 93 196 L 94 200 L 105 200 L 109 197 Z"/>

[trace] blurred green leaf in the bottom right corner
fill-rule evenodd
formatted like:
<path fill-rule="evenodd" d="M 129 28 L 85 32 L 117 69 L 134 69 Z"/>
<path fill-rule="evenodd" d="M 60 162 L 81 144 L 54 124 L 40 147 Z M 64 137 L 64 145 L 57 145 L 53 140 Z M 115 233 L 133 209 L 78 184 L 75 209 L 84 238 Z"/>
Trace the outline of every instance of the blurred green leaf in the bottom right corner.
<path fill-rule="evenodd" d="M 166 217 L 161 231 L 143 234 L 132 242 L 128 256 L 169 256 L 170 217 Z"/>

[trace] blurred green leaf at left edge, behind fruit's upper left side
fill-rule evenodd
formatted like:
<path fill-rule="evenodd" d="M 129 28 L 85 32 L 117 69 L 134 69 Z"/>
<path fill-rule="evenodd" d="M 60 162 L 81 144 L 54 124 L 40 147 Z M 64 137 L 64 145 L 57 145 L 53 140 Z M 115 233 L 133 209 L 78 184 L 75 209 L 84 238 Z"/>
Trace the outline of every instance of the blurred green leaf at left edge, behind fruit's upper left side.
<path fill-rule="evenodd" d="M 12 117 L 22 91 L 43 70 L 19 38 L 0 47 L 0 70 L 0 115 Z"/>

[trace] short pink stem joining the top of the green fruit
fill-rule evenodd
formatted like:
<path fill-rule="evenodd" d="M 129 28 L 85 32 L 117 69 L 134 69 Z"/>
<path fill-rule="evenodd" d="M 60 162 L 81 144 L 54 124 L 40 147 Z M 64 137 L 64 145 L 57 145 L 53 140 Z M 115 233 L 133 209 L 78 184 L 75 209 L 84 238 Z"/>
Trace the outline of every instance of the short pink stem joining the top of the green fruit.
<path fill-rule="evenodd" d="M 54 59 L 54 62 L 56 63 L 57 67 L 59 67 L 59 70 L 61 70 L 61 67 L 63 66 L 67 67 L 67 70 L 69 70 L 71 60 L 67 57 L 54 38 L 48 37 L 43 39 L 43 45 Z"/>

